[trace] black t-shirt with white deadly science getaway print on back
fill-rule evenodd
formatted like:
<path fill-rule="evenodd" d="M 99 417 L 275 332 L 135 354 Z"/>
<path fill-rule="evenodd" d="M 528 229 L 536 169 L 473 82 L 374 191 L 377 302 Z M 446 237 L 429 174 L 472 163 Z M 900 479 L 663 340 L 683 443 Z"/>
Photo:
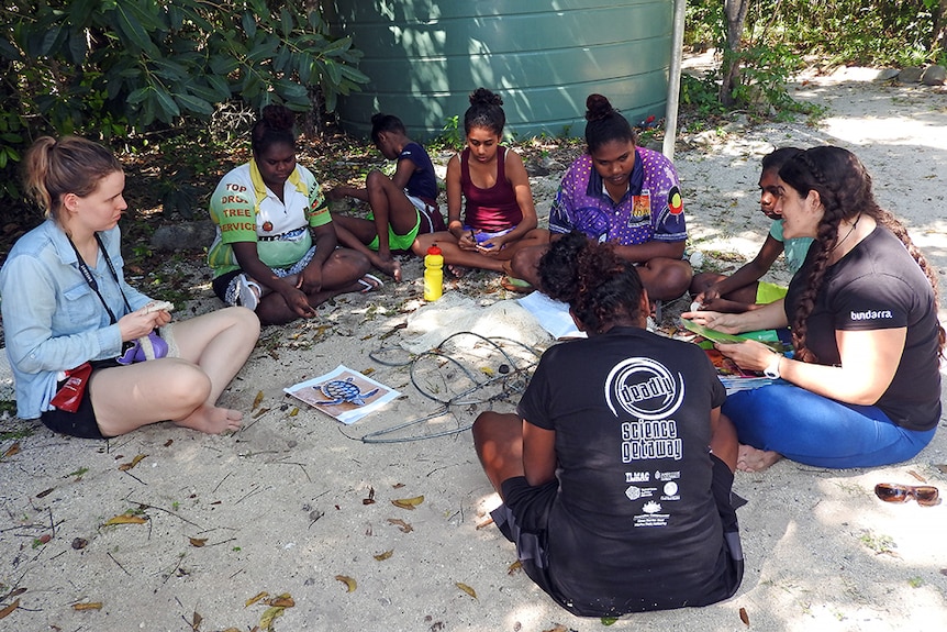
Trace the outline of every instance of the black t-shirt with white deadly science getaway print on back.
<path fill-rule="evenodd" d="M 725 390 L 704 352 L 638 328 L 549 348 L 520 402 L 556 432 L 549 574 L 580 609 L 699 605 L 721 584 L 710 411 Z"/>

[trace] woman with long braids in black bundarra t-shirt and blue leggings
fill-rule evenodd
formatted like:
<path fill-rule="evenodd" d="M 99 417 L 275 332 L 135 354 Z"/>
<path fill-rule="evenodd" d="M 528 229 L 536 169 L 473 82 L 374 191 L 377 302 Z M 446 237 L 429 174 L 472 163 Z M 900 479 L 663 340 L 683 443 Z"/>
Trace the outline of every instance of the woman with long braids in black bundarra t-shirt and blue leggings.
<path fill-rule="evenodd" d="M 792 328 L 792 359 L 751 341 L 717 345 L 740 367 L 786 380 L 727 400 L 744 444 L 737 466 L 759 470 L 781 455 L 837 468 L 911 458 L 940 419 L 934 271 L 850 152 L 807 149 L 778 185 L 783 236 L 815 237 L 786 299 L 744 314 L 683 314 L 727 333 Z"/>

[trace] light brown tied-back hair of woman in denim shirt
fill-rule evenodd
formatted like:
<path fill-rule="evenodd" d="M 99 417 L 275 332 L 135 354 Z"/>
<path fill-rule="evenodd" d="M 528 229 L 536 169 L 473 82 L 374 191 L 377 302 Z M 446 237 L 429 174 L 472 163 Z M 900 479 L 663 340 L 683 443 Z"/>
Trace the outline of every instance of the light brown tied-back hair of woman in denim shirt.
<path fill-rule="evenodd" d="M 105 176 L 121 171 L 122 165 L 112 153 L 98 143 L 79 136 L 58 141 L 41 136 L 26 152 L 23 160 L 23 184 L 26 195 L 46 217 L 57 217 L 63 196 L 90 195 Z"/>

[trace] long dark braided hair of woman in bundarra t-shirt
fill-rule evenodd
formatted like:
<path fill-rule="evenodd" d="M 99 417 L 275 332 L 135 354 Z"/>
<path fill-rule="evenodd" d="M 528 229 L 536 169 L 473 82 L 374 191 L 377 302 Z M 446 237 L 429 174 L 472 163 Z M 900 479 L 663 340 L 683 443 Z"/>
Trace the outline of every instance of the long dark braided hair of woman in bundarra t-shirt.
<path fill-rule="evenodd" d="M 811 246 L 815 248 L 813 265 L 810 267 L 805 289 L 792 318 L 792 337 L 798 359 L 817 362 L 815 354 L 805 346 L 806 321 L 822 289 L 829 255 L 836 244 L 838 226 L 843 220 L 850 221 L 864 213 L 891 231 L 901 240 L 909 254 L 927 276 L 934 290 L 935 304 L 938 304 L 937 277 L 934 270 L 911 241 L 904 224 L 878 204 L 871 188 L 871 175 L 855 154 L 831 145 L 813 147 L 786 163 L 779 170 L 779 177 L 803 198 L 810 191 L 816 191 L 825 211 Z M 945 345 L 943 328 L 939 333 L 939 345 L 943 353 Z"/>

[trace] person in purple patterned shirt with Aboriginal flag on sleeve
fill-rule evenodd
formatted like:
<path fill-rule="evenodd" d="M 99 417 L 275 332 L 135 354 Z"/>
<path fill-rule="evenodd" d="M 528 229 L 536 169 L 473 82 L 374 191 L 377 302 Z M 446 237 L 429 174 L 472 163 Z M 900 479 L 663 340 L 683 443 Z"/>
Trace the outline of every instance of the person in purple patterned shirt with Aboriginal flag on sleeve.
<path fill-rule="evenodd" d="M 578 230 L 613 243 L 620 257 L 638 267 L 651 300 L 676 299 L 693 276 L 682 259 L 688 233 L 677 170 L 660 153 L 636 145 L 631 124 L 605 97 L 589 95 L 586 108 L 587 151 L 559 185 L 549 239 Z M 508 274 L 536 286 L 537 264 L 547 250 L 521 251 Z"/>

